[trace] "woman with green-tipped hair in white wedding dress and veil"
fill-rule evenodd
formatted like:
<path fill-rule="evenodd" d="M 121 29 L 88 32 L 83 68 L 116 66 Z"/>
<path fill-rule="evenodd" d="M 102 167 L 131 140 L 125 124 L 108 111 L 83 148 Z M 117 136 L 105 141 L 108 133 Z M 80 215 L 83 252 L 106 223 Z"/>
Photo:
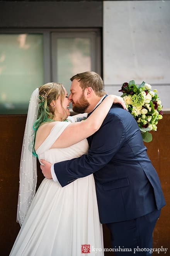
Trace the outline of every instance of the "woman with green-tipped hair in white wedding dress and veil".
<path fill-rule="evenodd" d="M 87 154 L 86 138 L 100 128 L 113 102 L 124 104 L 109 95 L 85 121 L 75 122 L 85 114 L 69 116 L 70 100 L 62 84 L 34 90 L 20 162 L 17 221 L 22 227 L 10 256 L 80 256 L 89 245 L 90 255 L 96 255 L 92 247 L 104 255 L 93 175 L 65 187 L 44 178 L 35 195 L 36 156 L 56 163 Z"/>

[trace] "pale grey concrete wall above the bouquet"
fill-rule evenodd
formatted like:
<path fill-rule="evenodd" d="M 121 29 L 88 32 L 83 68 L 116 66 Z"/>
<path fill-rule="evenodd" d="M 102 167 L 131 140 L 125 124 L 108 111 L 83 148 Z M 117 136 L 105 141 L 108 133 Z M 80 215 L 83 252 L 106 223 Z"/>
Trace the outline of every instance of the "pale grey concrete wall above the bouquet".
<path fill-rule="evenodd" d="M 104 1 L 104 83 L 145 81 L 170 109 L 170 1 Z"/>

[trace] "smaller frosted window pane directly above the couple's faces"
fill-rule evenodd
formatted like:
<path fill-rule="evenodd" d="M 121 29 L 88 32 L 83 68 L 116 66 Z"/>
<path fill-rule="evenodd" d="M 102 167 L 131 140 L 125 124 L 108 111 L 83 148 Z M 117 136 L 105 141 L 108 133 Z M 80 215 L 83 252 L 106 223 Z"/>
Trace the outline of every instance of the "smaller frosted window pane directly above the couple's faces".
<path fill-rule="evenodd" d="M 69 92 L 71 76 L 91 70 L 91 38 L 57 38 L 56 46 L 57 81 Z"/>

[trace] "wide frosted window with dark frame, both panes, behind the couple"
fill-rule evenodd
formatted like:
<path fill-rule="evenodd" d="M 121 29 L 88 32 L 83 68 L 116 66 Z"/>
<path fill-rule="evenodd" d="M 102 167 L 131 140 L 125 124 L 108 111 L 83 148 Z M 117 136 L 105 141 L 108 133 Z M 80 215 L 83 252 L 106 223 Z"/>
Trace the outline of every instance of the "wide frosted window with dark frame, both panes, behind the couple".
<path fill-rule="evenodd" d="M 26 33 L 27 32 L 27 33 Z M 100 74 L 98 29 L 54 29 L 0 34 L 0 114 L 26 114 L 32 91 L 76 73 Z"/>

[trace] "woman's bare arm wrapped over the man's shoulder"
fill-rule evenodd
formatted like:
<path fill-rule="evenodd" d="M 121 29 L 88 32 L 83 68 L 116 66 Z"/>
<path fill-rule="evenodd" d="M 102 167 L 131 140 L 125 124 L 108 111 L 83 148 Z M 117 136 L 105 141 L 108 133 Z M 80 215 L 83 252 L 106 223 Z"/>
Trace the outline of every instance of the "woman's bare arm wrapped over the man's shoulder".
<path fill-rule="evenodd" d="M 51 148 L 69 147 L 95 133 L 99 130 L 115 100 L 126 108 L 121 97 L 115 95 L 107 96 L 85 121 L 68 125 Z"/>

